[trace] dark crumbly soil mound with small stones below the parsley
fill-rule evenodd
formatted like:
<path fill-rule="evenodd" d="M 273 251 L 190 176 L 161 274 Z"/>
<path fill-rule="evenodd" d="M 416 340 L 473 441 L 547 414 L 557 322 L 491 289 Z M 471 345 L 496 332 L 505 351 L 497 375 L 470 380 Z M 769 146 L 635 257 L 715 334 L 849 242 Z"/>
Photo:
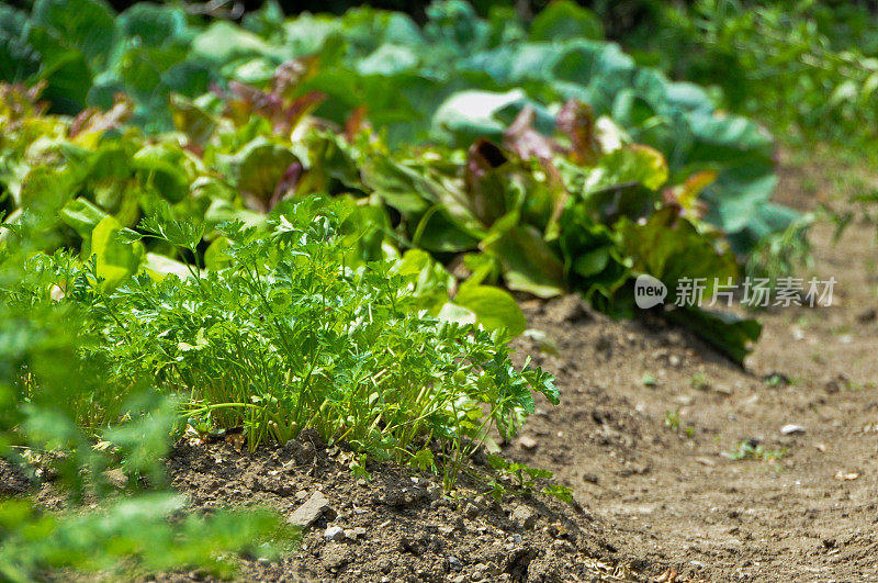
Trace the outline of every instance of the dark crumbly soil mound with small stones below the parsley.
<path fill-rule="evenodd" d="M 300 438 L 301 439 L 301 438 Z M 436 477 L 370 466 L 353 478 L 349 455 L 319 439 L 290 441 L 247 456 L 227 444 L 181 442 L 170 460 L 173 485 L 192 511 L 262 504 L 291 516 L 320 492 L 328 508 L 279 563 L 241 561 L 241 580 L 263 581 L 590 581 L 633 579 L 605 527 L 578 505 L 543 495 L 503 503 L 463 479 L 460 501 L 441 495 Z M 484 485 L 481 486 L 484 490 Z M 341 529 L 344 532 L 327 536 Z M 165 581 L 201 580 L 178 573 Z"/>

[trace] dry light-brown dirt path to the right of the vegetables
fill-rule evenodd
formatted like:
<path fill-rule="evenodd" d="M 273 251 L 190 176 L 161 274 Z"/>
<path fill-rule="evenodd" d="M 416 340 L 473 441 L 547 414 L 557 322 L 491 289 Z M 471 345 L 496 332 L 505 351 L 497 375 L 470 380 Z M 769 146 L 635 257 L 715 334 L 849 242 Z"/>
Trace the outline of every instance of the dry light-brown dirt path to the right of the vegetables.
<path fill-rule="evenodd" d="M 783 176 L 786 202 L 799 202 L 801 177 Z M 531 326 L 559 345 L 538 358 L 563 397 L 506 453 L 555 471 L 654 575 L 878 581 L 875 227 L 832 245 L 818 224 L 811 240 L 811 271 L 838 281 L 836 305 L 762 314 L 744 370 L 661 324 L 611 322 L 572 298 L 531 304 Z M 783 456 L 723 456 L 746 440 Z"/>

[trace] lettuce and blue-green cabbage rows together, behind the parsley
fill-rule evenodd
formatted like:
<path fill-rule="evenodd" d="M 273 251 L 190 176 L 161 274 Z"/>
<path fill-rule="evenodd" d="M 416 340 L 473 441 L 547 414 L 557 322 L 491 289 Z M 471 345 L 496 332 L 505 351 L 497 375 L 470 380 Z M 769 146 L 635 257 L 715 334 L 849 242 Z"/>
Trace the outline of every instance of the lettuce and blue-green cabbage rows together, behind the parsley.
<path fill-rule="evenodd" d="M 237 26 L 151 4 L 119 18 L 93 2 L 37 3 L 30 18 L 7 8 L 7 77 L 45 83 L 52 111 L 77 113 L 45 115 L 35 89 L 7 90 L 7 222 L 57 192 L 44 211 L 59 213 L 63 243 L 97 254 L 113 287 L 140 265 L 184 269 L 160 246 L 95 246 L 99 225 L 112 246 L 168 203 L 204 225 L 198 254 L 214 267 L 216 225 L 262 225 L 282 199 L 319 193 L 353 203 L 349 265 L 423 249 L 462 261 L 470 289 L 574 289 L 620 315 L 632 276 L 724 281 L 729 251 L 790 225 L 767 202 L 770 137 L 634 66 L 596 38 L 589 13 L 553 3 L 530 30 L 460 2 L 429 16 L 423 29 L 369 9 L 283 20 L 267 4 Z M 434 315 L 448 288 L 436 273 Z M 462 295 L 480 316 L 481 295 Z M 677 316 L 738 360 L 757 334 Z M 520 332 L 520 317 L 505 324 Z"/>

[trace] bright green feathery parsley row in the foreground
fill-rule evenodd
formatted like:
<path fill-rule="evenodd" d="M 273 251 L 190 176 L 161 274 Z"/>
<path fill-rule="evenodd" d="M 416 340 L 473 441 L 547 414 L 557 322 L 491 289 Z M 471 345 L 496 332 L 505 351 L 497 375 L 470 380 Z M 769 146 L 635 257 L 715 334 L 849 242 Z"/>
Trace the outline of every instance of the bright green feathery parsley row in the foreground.
<path fill-rule="evenodd" d="M 114 422 L 148 379 L 180 395 L 196 435 L 243 428 L 254 450 L 313 428 L 379 459 L 441 468 L 450 489 L 492 428 L 514 435 L 533 412 L 531 389 L 554 403 L 558 391 L 541 370 L 513 367 L 500 333 L 419 310 L 420 266 L 347 265 L 336 232 L 346 212 L 308 199 L 282 204 L 268 234 L 227 223 L 227 266 L 185 278 L 142 271 L 113 287 L 101 254 L 85 262 L 69 251 L 37 254 L 2 298 L 13 306 L 56 301 L 93 334 L 79 352 L 101 363 L 105 385 L 80 425 Z M 29 213 L 18 233 L 43 223 Z M 148 237 L 192 251 L 203 234 L 167 214 L 140 229 L 120 233 L 124 245 Z"/>

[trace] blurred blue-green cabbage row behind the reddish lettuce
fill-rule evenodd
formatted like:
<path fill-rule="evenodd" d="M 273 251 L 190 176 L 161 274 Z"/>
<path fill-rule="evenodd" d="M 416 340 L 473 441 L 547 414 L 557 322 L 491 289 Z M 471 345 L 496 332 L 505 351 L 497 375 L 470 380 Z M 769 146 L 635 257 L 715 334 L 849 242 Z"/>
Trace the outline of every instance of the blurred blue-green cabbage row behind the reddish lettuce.
<path fill-rule="evenodd" d="M 142 3 L 114 18 L 101 0 L 37 0 L 31 14 L 0 7 L 0 77 L 48 81 L 46 97 L 70 114 L 110 108 L 124 91 L 138 123 L 167 130 L 171 92 L 194 98 L 229 80 L 262 86 L 302 59 L 302 70 L 290 71 L 302 77 L 297 94 L 331 97 L 317 113 L 337 123 L 364 109 L 392 147 L 498 139 L 527 105 L 545 132 L 560 104 L 577 99 L 662 152 L 673 183 L 717 172 L 702 193 L 706 220 L 730 234 L 736 253 L 795 218 L 769 203 L 768 135 L 719 114 L 697 86 L 637 66 L 600 40 L 584 9 L 552 2 L 529 26 L 503 8 L 481 20 L 460 0 L 437 2 L 427 15 L 423 27 L 372 9 L 284 19 L 269 1 L 238 26 L 205 23 L 179 5 Z"/>

